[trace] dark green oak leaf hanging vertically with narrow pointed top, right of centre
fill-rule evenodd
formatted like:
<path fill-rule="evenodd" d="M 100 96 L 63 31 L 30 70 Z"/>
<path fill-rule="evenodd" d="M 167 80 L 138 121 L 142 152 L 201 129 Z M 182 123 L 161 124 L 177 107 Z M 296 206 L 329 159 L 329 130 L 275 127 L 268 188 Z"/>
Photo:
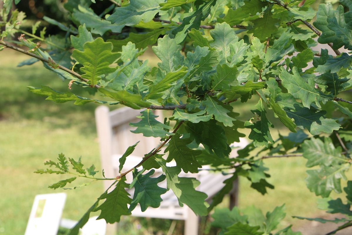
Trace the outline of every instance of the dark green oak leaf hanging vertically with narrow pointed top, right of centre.
<path fill-rule="evenodd" d="M 251 110 L 254 117 L 250 121 L 245 122 L 245 127 L 251 129 L 248 138 L 253 140 L 255 147 L 269 146 L 269 141 L 274 143 L 270 135 L 269 127 L 274 128 L 274 125 L 266 118 L 265 108 L 262 99 L 254 106 L 256 109 Z"/>

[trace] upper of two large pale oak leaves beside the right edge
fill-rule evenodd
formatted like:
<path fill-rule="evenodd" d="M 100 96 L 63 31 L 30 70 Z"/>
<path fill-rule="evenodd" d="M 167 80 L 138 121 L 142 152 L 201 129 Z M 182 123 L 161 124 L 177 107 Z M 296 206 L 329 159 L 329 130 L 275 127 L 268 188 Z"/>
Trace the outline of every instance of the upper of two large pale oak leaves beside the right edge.
<path fill-rule="evenodd" d="M 341 154 L 341 148 L 335 148 L 331 138 L 325 137 L 324 141 L 319 138 L 311 138 L 304 141 L 303 157 L 308 159 L 306 166 L 313 167 L 316 165 L 331 166 L 348 162 Z"/>

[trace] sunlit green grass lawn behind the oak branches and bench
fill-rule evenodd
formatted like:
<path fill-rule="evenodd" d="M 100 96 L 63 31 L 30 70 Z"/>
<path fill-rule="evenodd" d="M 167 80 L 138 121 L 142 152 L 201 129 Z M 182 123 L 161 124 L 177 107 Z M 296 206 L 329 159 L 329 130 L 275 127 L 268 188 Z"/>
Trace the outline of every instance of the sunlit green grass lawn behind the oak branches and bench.
<path fill-rule="evenodd" d="M 76 106 L 73 102 L 57 104 L 28 92 L 26 86 L 40 85 L 65 92 L 68 91 L 68 81 L 62 82 L 40 63 L 16 67 L 18 62 L 27 58 L 7 49 L 0 52 L 0 235 L 24 234 L 36 194 L 63 191 L 47 187 L 62 176 L 33 173 L 36 169 L 44 168 L 43 162 L 46 160 L 55 160 L 59 153 L 64 153 L 74 159 L 82 156 L 86 167 L 94 163 L 100 169 L 94 121 L 97 105 Z M 77 92 L 75 86 L 72 92 Z M 80 91 L 77 93 L 88 95 Z M 251 115 L 250 109 L 251 106 L 240 108 L 247 116 Z M 277 136 L 277 131 L 274 130 L 273 134 Z M 271 174 L 269 182 L 276 189 L 262 196 L 249 188 L 249 182 L 241 180 L 240 208 L 254 204 L 266 213 L 286 203 L 287 217 L 282 226 L 297 222 L 291 215 L 309 217 L 320 213 L 315 206 L 316 197 L 304 183 L 305 162 L 302 158 L 267 159 L 265 165 L 270 168 Z M 101 182 L 94 182 L 65 192 L 68 198 L 63 216 L 79 219 L 103 192 L 103 187 Z M 148 221 L 143 222 L 145 226 Z M 129 226 L 133 227 L 133 224 L 131 221 Z M 132 230 L 126 234 L 141 234 Z M 146 231 L 143 234 L 147 234 Z"/>

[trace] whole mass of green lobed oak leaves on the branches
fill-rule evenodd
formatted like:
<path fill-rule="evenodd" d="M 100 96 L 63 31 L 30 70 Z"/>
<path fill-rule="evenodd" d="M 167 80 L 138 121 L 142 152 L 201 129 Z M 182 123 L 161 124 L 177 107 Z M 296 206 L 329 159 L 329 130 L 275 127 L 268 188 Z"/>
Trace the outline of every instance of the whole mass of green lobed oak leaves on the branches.
<path fill-rule="evenodd" d="M 352 49 L 348 36 L 352 31 L 350 1 L 341 0 L 337 10 L 331 4 L 320 4 L 317 11 L 312 8 L 314 0 L 111 1 L 112 6 L 98 14 L 90 8 L 92 2 L 68 0 L 64 7 L 70 22 L 45 18 L 65 32 L 64 36 L 46 39 L 40 33 L 39 39 L 47 48 L 36 42 L 38 25 L 33 26 L 32 34 L 26 33 L 20 30 L 23 14 L 13 12 L 8 17 L 11 2 L 7 0 L 1 11 L 5 30 L 0 45 L 34 57 L 21 66 L 42 61 L 45 68 L 68 80 L 69 87 L 93 88 L 105 98 L 80 97 L 47 86 L 29 87 L 30 92 L 57 103 L 147 108 L 141 112 L 140 122 L 130 124 L 136 127 L 133 132 L 159 137 L 163 145 L 167 144 L 167 157 L 152 151 L 141 163 L 141 171 L 131 169 L 131 184 L 125 182 L 128 172 L 121 172 L 111 186 L 113 190 L 98 198 L 71 234 L 83 226 L 92 211 L 101 210 L 100 218 L 117 222 L 121 215 L 131 214 L 138 203 L 142 210 L 158 207 L 161 194 L 170 189 L 180 205 L 188 205 L 198 215 L 206 215 L 219 204 L 239 176 L 265 194 L 274 186 L 266 181 L 270 175 L 263 163 L 264 154 L 302 155 L 308 159 L 307 167 L 314 167 L 307 171 L 307 187 L 312 192 L 325 198 L 332 190 L 342 192 L 340 181 L 346 179 L 344 172 L 351 164 L 352 102 L 341 95 L 352 88 L 352 56 L 338 49 Z M 313 26 L 309 21 L 314 17 Z M 29 48 L 27 51 L 6 42 L 15 32 L 25 34 L 17 43 Z M 317 41 L 314 36 L 319 36 Z M 335 54 L 326 49 L 314 51 L 318 43 L 327 44 Z M 147 61 L 139 60 L 148 46 L 160 60 L 158 67 L 150 68 Z M 234 107 L 251 99 L 256 103 L 251 110 L 253 117 L 241 120 L 242 113 L 234 112 Z M 161 123 L 151 109 L 173 112 Z M 269 113 L 274 113 L 277 121 L 273 122 Z M 273 123 L 282 123 L 290 134 L 274 141 L 270 133 Z M 238 151 L 239 157 L 230 158 L 231 144 L 245 137 L 240 132 L 244 128 L 249 129 L 247 137 L 252 142 Z M 135 147 L 123 155 L 120 171 Z M 176 166 L 166 166 L 173 160 Z M 58 168 L 57 172 L 66 172 L 63 156 L 58 163 L 47 164 Z M 80 161 L 72 164 L 77 173 L 86 175 Z M 181 171 L 198 173 L 205 165 L 236 169 L 230 171 L 231 177 L 210 206 L 201 200 L 207 195 L 195 189 L 199 181 L 178 176 Z M 151 177 L 158 168 L 163 174 Z M 143 174 L 146 170 L 150 171 Z M 167 187 L 159 187 L 157 184 L 164 180 Z M 126 188 L 132 187 L 130 197 Z M 102 199 L 105 201 L 100 204 Z M 220 227 L 228 229 L 227 234 L 238 229 L 269 234 L 282 217 L 282 209 L 260 220 L 266 227 L 243 216 L 235 216 L 238 220 L 234 225 Z M 279 232 L 287 233 L 289 228 Z"/>

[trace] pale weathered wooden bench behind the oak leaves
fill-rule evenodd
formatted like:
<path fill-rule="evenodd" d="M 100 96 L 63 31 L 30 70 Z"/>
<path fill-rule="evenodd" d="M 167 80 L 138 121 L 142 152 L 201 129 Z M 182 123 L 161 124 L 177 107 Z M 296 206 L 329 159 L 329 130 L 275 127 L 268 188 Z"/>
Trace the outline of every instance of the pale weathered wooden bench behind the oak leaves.
<path fill-rule="evenodd" d="M 126 159 L 126 163 L 122 172 L 127 171 L 133 166 L 137 165 L 144 154 L 149 153 L 153 148 L 157 147 L 161 142 L 159 138 L 144 137 L 142 134 L 133 134 L 128 123 L 136 123 L 141 119 L 136 118 L 140 116 L 141 110 L 134 110 L 128 107 L 109 111 L 107 106 L 99 106 L 95 110 L 96 127 L 100 145 L 100 157 L 102 168 L 105 172 L 105 177 L 114 178 L 119 172 L 119 158 L 124 154 L 128 146 L 140 141 L 130 155 Z M 162 116 L 161 111 L 156 111 L 156 115 Z M 161 121 L 162 122 L 162 121 Z M 245 147 L 247 142 L 244 140 L 242 147 Z M 204 167 L 203 167 L 204 168 Z M 181 173 L 182 174 L 182 173 Z M 184 177 L 185 175 L 181 175 Z M 127 174 L 127 182 L 132 181 L 132 174 Z M 211 198 L 224 186 L 222 182 L 231 175 L 225 176 L 221 173 L 212 173 L 210 171 L 200 171 L 198 174 L 186 174 L 187 176 L 195 177 L 200 181 L 197 187 L 198 191 L 205 192 L 208 195 L 207 200 Z M 111 182 L 105 181 L 105 188 L 111 185 Z M 164 183 L 164 185 L 162 185 Z M 231 192 L 231 206 L 237 204 L 237 187 L 238 182 L 234 183 L 234 190 Z M 166 182 L 158 184 L 160 187 L 166 188 Z M 133 195 L 133 191 L 129 191 Z M 151 217 L 151 218 L 165 218 L 165 219 L 181 219 L 185 221 L 185 235 L 198 234 L 198 217 L 194 214 L 188 206 L 181 207 L 178 199 L 172 190 L 161 195 L 163 201 L 159 208 L 147 208 L 146 211 L 140 210 L 139 204 L 132 211 L 132 216 Z"/>

